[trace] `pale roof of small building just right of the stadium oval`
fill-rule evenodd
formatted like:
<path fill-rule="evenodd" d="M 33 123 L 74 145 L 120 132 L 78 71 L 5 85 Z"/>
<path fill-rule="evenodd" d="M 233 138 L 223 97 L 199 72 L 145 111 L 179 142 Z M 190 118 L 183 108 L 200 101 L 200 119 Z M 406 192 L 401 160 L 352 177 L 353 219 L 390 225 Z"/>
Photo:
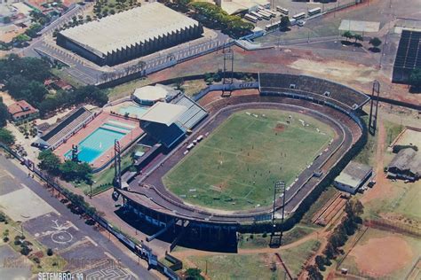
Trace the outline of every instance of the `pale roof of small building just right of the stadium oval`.
<path fill-rule="evenodd" d="M 358 188 L 370 172 L 371 167 L 365 164 L 351 161 L 344 168 L 344 170 L 342 170 L 335 181 L 338 183 L 346 184 L 353 188 Z"/>

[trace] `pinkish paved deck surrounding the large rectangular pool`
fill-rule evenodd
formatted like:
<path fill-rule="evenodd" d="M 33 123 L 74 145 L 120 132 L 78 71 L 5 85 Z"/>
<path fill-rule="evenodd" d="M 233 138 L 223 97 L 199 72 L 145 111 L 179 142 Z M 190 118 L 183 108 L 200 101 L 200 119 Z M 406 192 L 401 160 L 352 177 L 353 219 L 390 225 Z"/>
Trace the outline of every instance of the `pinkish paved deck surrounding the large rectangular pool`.
<path fill-rule="evenodd" d="M 72 144 L 79 144 L 83 141 L 84 138 L 91 135 L 93 131 L 95 131 L 97 128 L 102 126 L 107 121 L 118 121 L 122 123 L 129 124 L 133 126 L 134 128 L 131 130 L 130 133 L 123 136 L 122 139 L 120 139 L 120 144 L 122 147 L 122 150 L 131 143 L 131 141 L 138 136 L 143 134 L 143 130 L 139 127 L 138 121 L 132 121 L 124 119 L 123 117 L 119 117 L 116 115 L 111 115 L 107 112 L 100 113 L 95 119 L 93 119 L 86 128 L 82 128 L 74 136 L 71 136 L 68 141 L 64 144 L 61 144 L 56 150 L 54 150 L 54 153 L 60 157 L 61 160 L 64 160 L 64 154 L 68 152 L 72 148 Z M 114 157 L 114 146 L 109 148 L 106 152 L 103 152 L 102 155 L 98 157 L 98 159 L 95 159 L 91 163 L 91 167 L 98 168 L 103 166 L 108 159 L 112 159 Z"/>

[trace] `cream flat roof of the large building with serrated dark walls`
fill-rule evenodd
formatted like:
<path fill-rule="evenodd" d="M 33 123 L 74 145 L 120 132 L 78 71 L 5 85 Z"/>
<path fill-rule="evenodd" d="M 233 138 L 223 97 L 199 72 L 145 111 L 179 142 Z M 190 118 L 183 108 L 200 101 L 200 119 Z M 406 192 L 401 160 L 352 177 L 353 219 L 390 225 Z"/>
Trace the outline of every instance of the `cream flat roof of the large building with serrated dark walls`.
<path fill-rule="evenodd" d="M 195 19 L 157 2 L 61 31 L 61 35 L 97 55 L 122 50 L 136 43 L 155 40 L 187 27 L 198 26 Z"/>

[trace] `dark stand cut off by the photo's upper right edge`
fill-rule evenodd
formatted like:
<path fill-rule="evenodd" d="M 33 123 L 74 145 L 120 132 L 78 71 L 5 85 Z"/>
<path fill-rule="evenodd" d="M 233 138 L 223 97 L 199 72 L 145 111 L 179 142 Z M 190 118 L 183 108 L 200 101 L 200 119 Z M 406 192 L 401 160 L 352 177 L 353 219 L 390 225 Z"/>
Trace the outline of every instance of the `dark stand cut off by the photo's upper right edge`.
<path fill-rule="evenodd" d="M 393 65 L 392 82 L 408 82 L 409 76 L 421 67 L 421 32 L 402 30 Z"/>

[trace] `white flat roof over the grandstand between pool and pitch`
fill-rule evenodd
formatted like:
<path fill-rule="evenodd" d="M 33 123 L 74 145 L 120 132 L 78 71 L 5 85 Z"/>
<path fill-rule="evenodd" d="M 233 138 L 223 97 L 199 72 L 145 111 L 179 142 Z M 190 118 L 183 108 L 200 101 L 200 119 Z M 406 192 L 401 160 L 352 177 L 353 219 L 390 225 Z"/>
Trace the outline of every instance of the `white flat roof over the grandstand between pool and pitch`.
<path fill-rule="evenodd" d="M 169 127 L 179 119 L 179 115 L 186 111 L 187 107 L 183 105 L 157 102 L 142 115 L 140 120 L 162 123 Z"/>

